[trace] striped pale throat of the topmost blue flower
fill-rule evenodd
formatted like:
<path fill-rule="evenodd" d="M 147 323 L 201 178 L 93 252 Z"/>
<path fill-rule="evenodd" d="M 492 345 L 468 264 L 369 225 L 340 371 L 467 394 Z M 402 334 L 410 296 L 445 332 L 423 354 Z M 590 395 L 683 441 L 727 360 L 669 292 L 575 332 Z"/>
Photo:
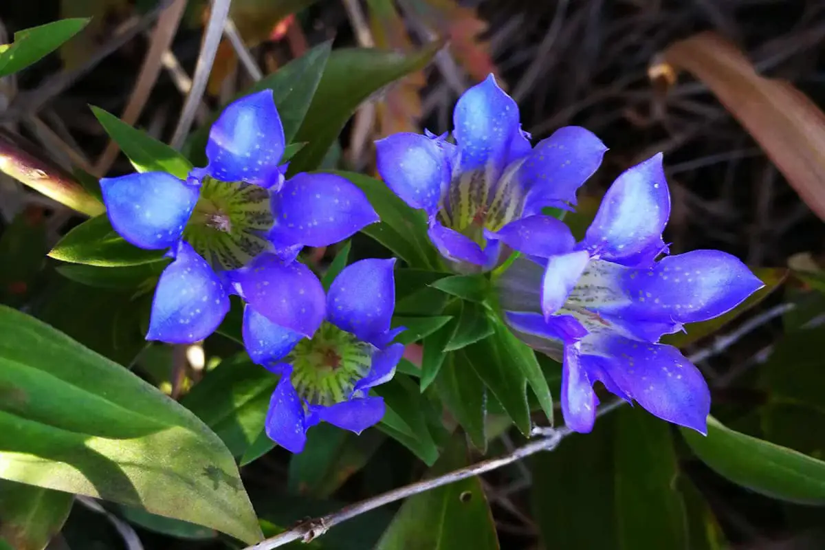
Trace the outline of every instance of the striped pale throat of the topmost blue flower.
<path fill-rule="evenodd" d="M 512 162 L 503 172 L 488 165 L 454 174 L 441 199 L 438 221 L 483 245 L 484 229 L 498 231 L 524 210 L 525 193 L 517 178 L 523 162 Z"/>

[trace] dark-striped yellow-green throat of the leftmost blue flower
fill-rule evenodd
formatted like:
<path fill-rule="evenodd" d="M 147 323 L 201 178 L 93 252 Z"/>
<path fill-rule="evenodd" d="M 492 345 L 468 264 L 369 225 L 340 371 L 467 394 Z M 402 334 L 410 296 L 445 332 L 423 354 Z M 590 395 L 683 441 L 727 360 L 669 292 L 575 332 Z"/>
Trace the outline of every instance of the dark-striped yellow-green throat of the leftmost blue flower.
<path fill-rule="evenodd" d="M 269 247 L 271 228 L 268 190 L 205 176 L 183 238 L 215 269 L 234 270 Z"/>

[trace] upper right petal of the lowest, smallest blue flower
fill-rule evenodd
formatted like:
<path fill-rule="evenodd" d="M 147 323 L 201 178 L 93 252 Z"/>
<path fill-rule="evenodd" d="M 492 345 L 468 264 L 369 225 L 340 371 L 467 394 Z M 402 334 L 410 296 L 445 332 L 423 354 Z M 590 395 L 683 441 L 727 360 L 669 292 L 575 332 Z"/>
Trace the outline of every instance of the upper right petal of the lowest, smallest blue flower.
<path fill-rule="evenodd" d="M 363 341 L 389 331 L 395 308 L 395 258 L 361 260 L 332 281 L 327 294 L 328 320 Z"/>

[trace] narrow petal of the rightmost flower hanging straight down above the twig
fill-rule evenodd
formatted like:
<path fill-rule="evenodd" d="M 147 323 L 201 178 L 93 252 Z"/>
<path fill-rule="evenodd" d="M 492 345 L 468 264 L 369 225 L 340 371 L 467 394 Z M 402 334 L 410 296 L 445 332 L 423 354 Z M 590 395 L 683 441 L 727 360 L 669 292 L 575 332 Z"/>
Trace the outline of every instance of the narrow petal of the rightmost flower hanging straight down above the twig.
<path fill-rule="evenodd" d="M 596 422 L 599 400 L 592 383 L 582 368 L 579 344 L 564 346 L 562 364 L 562 415 L 564 425 L 573 431 L 587 434 Z"/>

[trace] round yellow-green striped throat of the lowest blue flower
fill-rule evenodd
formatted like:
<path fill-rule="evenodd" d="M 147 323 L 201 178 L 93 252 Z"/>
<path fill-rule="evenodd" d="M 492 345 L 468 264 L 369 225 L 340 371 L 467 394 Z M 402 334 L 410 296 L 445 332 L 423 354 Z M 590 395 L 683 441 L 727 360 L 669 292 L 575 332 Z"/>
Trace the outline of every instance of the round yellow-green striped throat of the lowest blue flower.
<path fill-rule="evenodd" d="M 375 348 L 324 322 L 311 340 L 298 342 L 287 356 L 292 385 L 310 405 L 347 401 L 356 382 L 370 372 Z"/>

